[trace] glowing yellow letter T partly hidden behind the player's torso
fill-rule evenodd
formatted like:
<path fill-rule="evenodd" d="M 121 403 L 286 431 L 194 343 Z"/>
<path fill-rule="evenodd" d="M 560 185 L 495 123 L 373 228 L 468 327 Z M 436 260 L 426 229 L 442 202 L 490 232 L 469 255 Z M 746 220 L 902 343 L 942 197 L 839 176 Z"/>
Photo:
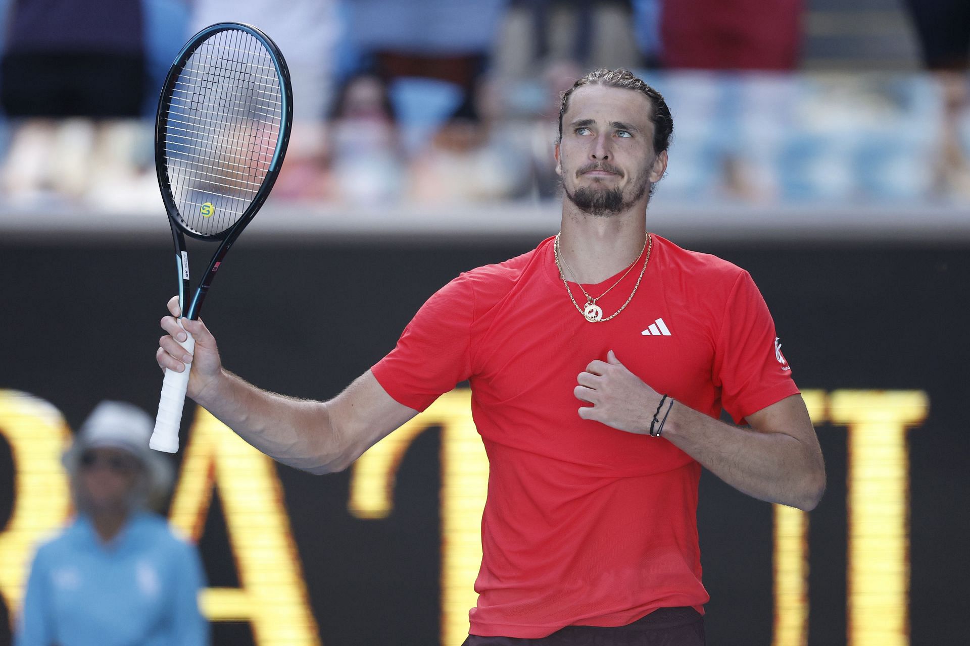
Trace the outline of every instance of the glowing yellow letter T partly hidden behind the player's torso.
<path fill-rule="evenodd" d="M 488 457 L 471 418 L 468 389 L 438 397 L 427 411 L 372 446 L 354 463 L 350 511 L 382 518 L 394 503 L 394 479 L 407 446 L 425 429 L 441 428 L 441 643 L 469 634 L 482 560 L 481 519 L 488 490 Z"/>

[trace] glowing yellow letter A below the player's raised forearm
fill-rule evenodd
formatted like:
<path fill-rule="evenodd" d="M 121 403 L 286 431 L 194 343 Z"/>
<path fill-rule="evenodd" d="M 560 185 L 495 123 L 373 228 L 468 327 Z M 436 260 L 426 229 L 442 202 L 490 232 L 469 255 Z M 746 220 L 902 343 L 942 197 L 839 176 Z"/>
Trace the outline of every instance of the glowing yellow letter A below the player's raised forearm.
<path fill-rule="evenodd" d="M 199 538 L 217 484 L 242 584 L 206 590 L 206 616 L 248 621 L 257 646 L 319 644 L 273 461 L 201 408 L 189 438 L 172 524 Z"/>

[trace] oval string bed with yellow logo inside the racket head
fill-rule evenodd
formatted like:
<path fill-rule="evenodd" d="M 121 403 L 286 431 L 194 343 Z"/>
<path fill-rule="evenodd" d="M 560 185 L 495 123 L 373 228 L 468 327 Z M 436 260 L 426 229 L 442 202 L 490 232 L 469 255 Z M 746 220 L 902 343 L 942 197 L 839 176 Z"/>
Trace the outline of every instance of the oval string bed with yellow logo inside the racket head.
<path fill-rule="evenodd" d="M 169 182 L 186 227 L 213 235 L 239 221 L 273 163 L 282 109 L 273 59 L 252 35 L 220 31 L 192 52 L 164 122 Z"/>

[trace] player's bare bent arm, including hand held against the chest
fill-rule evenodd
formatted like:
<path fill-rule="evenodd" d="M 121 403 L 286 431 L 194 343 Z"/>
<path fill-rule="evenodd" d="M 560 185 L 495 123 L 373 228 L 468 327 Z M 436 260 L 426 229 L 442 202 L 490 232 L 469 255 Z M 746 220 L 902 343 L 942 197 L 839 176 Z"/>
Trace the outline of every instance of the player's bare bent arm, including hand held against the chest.
<path fill-rule="evenodd" d="M 577 399 L 583 419 L 647 435 L 662 395 L 610 351 L 579 374 Z M 664 403 L 663 413 L 667 404 Z M 747 416 L 749 428 L 733 426 L 676 402 L 663 438 L 735 489 L 769 503 L 810 511 L 825 490 L 822 449 L 800 395 Z"/>

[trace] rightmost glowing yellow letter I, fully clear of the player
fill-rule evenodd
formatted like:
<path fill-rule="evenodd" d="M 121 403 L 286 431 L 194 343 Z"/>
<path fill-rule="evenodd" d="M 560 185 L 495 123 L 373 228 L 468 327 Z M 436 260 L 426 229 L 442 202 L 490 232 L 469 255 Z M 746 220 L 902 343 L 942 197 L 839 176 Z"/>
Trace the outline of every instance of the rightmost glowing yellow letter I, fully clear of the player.
<path fill-rule="evenodd" d="M 837 390 L 849 427 L 848 643 L 909 644 L 909 451 L 906 430 L 929 405 L 917 390 Z"/>

